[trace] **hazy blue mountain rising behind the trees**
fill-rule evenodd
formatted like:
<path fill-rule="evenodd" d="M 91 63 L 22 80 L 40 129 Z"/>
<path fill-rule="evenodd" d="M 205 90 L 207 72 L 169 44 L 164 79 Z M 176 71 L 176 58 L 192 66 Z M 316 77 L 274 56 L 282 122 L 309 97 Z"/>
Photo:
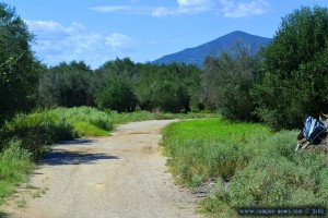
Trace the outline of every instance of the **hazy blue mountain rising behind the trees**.
<path fill-rule="evenodd" d="M 169 64 L 172 62 L 185 62 L 202 68 L 203 61 L 208 56 L 219 57 L 222 52 L 231 52 L 235 48 L 236 41 L 239 41 L 242 47 L 247 48 L 251 55 L 256 55 L 260 47 L 266 47 L 271 40 L 271 38 L 236 31 L 198 47 L 164 56 L 152 63 Z"/>

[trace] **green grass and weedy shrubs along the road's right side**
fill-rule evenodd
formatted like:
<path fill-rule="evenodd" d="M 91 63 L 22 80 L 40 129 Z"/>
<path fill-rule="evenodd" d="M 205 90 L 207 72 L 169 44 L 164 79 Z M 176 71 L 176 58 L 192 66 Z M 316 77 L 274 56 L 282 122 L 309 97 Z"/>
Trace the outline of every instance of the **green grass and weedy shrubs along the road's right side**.
<path fill-rule="evenodd" d="M 236 217 L 241 207 L 328 205 L 327 156 L 295 154 L 295 131 L 272 133 L 259 124 L 210 119 L 173 123 L 163 133 L 167 165 L 178 183 L 195 187 L 216 181 L 214 195 L 201 204 L 209 215 Z"/>

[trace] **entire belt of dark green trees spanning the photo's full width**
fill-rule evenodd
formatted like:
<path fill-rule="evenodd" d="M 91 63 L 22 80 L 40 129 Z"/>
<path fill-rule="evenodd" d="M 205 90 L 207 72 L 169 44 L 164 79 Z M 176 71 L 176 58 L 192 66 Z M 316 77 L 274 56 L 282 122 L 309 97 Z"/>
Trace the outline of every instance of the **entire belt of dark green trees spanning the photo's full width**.
<path fill-rule="evenodd" d="M 242 41 L 204 68 L 116 59 L 92 70 L 83 61 L 45 66 L 31 50 L 23 20 L 0 4 L 0 121 L 39 108 L 91 106 L 102 110 L 220 111 L 241 121 L 293 129 L 306 114 L 328 111 L 328 10 L 286 15 L 256 57 Z"/>

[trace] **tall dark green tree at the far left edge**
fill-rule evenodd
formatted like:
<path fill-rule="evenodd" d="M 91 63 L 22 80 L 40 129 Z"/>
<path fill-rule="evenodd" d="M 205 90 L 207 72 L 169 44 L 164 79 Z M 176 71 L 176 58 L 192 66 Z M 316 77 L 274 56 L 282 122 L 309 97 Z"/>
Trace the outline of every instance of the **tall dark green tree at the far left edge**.
<path fill-rule="evenodd" d="M 43 68 L 32 43 L 33 35 L 15 10 L 0 3 L 0 122 L 35 107 Z"/>

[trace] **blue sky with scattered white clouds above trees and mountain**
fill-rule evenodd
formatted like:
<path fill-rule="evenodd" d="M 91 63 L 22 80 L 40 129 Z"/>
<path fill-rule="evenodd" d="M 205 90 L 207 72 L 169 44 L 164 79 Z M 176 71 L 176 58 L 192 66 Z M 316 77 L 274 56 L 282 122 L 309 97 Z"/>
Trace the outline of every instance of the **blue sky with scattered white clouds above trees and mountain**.
<path fill-rule="evenodd" d="M 93 69 L 130 57 L 153 61 L 233 31 L 273 37 L 281 17 L 327 0 L 8 0 L 47 65 L 84 60 Z"/>

